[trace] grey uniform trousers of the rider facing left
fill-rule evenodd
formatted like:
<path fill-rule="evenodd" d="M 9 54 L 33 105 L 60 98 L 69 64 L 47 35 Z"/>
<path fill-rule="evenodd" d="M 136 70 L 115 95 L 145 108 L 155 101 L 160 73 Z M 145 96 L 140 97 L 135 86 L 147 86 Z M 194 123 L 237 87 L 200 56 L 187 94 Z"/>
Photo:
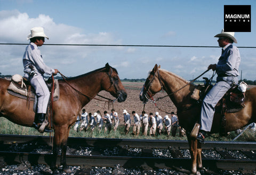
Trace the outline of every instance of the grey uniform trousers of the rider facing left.
<path fill-rule="evenodd" d="M 206 94 L 202 103 L 201 110 L 201 128 L 204 131 L 211 131 L 212 121 L 215 112 L 215 105 L 225 95 L 225 93 L 233 86 L 233 82 L 238 84 L 236 77 L 217 77 L 217 83 Z"/>

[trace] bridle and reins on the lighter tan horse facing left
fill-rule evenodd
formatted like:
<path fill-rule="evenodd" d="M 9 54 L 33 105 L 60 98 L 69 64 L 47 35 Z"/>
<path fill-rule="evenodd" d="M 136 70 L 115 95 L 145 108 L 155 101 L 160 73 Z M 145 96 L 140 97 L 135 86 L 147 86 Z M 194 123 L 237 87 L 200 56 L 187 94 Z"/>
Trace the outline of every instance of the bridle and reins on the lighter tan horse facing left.
<path fill-rule="evenodd" d="M 159 111 L 162 111 L 162 112 L 165 112 L 165 113 L 169 113 L 169 114 L 170 114 L 170 112 L 166 112 L 166 111 L 163 111 L 162 109 L 160 109 L 160 108 L 158 107 L 158 105 L 157 105 L 156 102 L 159 101 L 160 99 L 163 99 L 163 98 L 165 98 L 165 97 L 171 96 L 171 95 L 177 93 L 179 90 L 181 90 L 181 89 L 185 88 L 186 86 L 192 84 L 196 79 L 198 79 L 199 77 L 203 76 L 203 74 L 205 74 L 205 73 L 208 72 L 209 70 L 210 70 L 210 69 L 207 69 L 207 70 L 204 71 L 200 76 L 198 76 L 198 77 L 196 77 L 195 79 L 191 80 L 191 81 L 188 82 L 186 85 L 184 85 L 184 86 L 182 86 L 181 88 L 179 88 L 178 90 L 173 91 L 171 94 L 167 94 L 167 95 L 165 95 L 165 96 L 163 96 L 163 97 L 158 97 L 157 99 L 154 99 L 153 96 L 150 95 L 150 93 L 149 93 L 149 87 L 152 86 L 152 82 L 153 82 L 153 80 L 155 79 L 156 74 L 157 74 L 157 76 L 158 76 L 158 81 L 159 81 L 159 83 L 160 83 L 160 85 L 161 85 L 161 90 L 163 90 L 163 84 L 162 84 L 161 77 L 160 77 L 160 74 L 159 74 L 159 69 L 157 69 L 157 71 L 155 72 L 153 78 L 149 81 L 148 86 L 145 87 L 145 84 L 143 85 L 143 91 L 146 91 L 146 92 L 145 92 L 145 93 L 146 93 L 146 94 L 145 94 L 145 97 L 146 97 L 149 101 L 153 102 Z M 215 75 L 215 73 L 213 72 L 212 78 L 214 77 L 214 75 Z M 145 82 L 145 83 L 146 83 L 146 82 Z M 161 91 L 161 90 L 159 90 L 159 91 Z M 143 94 L 142 94 L 142 95 L 143 95 Z M 149 98 L 148 98 L 148 96 L 149 96 Z M 145 109 L 145 104 L 146 104 L 146 103 L 144 103 L 144 108 L 143 108 L 143 110 Z"/>

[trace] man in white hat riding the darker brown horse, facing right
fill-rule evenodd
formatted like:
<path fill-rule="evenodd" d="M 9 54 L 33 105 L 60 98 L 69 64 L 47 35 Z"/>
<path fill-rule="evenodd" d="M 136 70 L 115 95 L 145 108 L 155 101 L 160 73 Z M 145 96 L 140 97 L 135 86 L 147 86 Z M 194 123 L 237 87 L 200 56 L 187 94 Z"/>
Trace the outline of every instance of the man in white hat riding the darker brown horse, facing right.
<path fill-rule="evenodd" d="M 44 81 L 44 73 L 57 74 L 57 69 L 49 68 L 45 65 L 39 46 L 44 44 L 44 39 L 49 39 L 44 34 L 42 27 L 34 27 L 30 30 L 27 40 L 30 39 L 30 44 L 26 47 L 23 55 L 24 77 L 30 81 L 31 86 L 36 91 L 37 96 L 37 109 L 34 120 L 34 127 L 39 129 L 45 120 L 47 104 L 50 97 L 50 91 Z M 52 132 L 53 130 L 45 127 L 44 132 Z"/>

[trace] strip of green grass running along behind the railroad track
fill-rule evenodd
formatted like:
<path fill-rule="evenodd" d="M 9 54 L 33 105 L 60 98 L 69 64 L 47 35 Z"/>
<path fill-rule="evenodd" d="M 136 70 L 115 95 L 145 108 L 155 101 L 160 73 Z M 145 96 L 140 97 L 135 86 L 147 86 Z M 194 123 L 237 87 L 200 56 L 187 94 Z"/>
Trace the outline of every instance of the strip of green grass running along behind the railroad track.
<path fill-rule="evenodd" d="M 149 129 L 148 129 L 149 133 Z M 19 126 L 18 124 L 14 124 L 9 120 L 1 117 L 0 118 L 0 134 L 10 134 L 10 135 L 34 135 L 34 136 L 49 136 L 49 133 L 39 133 L 34 128 Z M 156 135 L 152 136 L 142 136 L 142 128 L 140 129 L 140 135 L 134 136 L 132 135 L 132 127 L 130 128 L 130 132 L 128 135 L 124 134 L 124 126 L 119 126 L 116 131 L 111 130 L 110 133 L 104 133 L 104 128 L 99 131 L 97 128 L 94 129 L 93 132 L 90 131 L 81 131 L 76 132 L 72 127 L 69 131 L 69 137 L 89 137 L 89 138 L 120 138 L 120 139 L 158 139 L 158 140 L 187 140 L 187 137 L 179 137 L 179 128 L 177 130 L 177 135 L 175 137 L 167 136 L 167 135 Z M 53 135 L 53 134 L 51 134 Z M 227 137 L 219 137 L 219 134 L 213 134 L 212 137 L 207 137 L 205 140 L 211 141 L 231 141 L 238 134 L 235 131 L 230 132 Z M 247 129 L 244 133 L 238 137 L 235 141 L 256 141 L 256 132 L 251 129 Z"/>

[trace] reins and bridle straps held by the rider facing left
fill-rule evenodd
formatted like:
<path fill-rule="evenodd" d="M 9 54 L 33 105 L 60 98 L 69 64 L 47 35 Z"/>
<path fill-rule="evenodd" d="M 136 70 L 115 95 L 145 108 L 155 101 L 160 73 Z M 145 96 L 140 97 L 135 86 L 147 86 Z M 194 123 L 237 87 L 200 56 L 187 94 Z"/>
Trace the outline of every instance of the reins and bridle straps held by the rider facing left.
<path fill-rule="evenodd" d="M 149 95 L 149 97 L 150 97 L 151 99 L 147 98 L 147 95 L 145 95 L 145 97 L 146 97 L 147 99 L 149 99 L 151 102 L 153 102 L 159 111 L 162 111 L 162 112 L 165 112 L 165 113 L 167 113 L 167 114 L 170 114 L 170 112 L 164 111 L 164 110 L 162 110 L 160 107 L 158 107 L 158 105 L 157 105 L 156 102 L 159 101 L 160 99 L 163 99 L 163 98 L 167 97 L 167 96 L 173 95 L 173 94 L 177 93 L 179 90 L 181 90 L 181 89 L 185 88 L 186 86 L 192 84 L 196 79 L 198 79 L 199 77 L 203 76 L 203 74 L 205 74 L 205 73 L 208 72 L 209 70 L 210 70 L 210 69 L 207 69 L 207 70 L 204 71 L 202 74 L 200 74 L 198 77 L 196 77 L 195 79 L 193 79 L 193 80 L 191 80 L 190 82 L 188 82 L 188 84 L 182 86 L 182 87 L 179 88 L 178 90 L 175 90 L 175 91 L 172 92 L 171 94 L 167 94 L 167 95 L 165 95 L 165 96 L 163 96 L 163 97 L 158 97 L 156 100 L 154 100 L 153 96 L 151 96 L 151 95 L 149 94 L 149 91 L 146 89 L 145 85 L 143 85 L 143 88 L 146 89 L 146 92 L 147 92 L 147 94 Z M 162 89 L 163 89 L 163 85 L 162 85 L 162 82 L 161 82 L 161 78 L 160 78 L 160 74 L 159 74 L 158 69 L 157 69 L 157 74 L 158 74 L 158 80 L 159 80 L 159 82 L 160 82 L 160 84 L 161 84 L 161 90 L 162 90 Z M 155 73 L 154 77 L 155 77 L 155 76 L 156 76 L 156 73 Z M 214 72 L 213 72 L 212 78 L 213 78 L 214 76 L 215 76 L 215 74 L 214 74 Z M 152 78 L 152 80 L 154 79 L 154 77 Z M 211 79 L 212 79 L 212 78 L 211 78 Z M 144 110 L 144 109 L 145 109 L 145 103 L 144 103 L 143 110 Z"/>

